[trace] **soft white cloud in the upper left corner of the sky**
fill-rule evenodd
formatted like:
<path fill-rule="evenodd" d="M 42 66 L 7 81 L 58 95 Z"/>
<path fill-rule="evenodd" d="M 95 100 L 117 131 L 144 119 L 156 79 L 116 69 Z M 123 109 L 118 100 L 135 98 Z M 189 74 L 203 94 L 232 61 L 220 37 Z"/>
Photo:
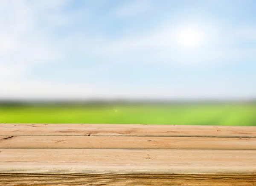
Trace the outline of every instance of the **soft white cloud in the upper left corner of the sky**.
<path fill-rule="evenodd" d="M 1 1 L 0 11 L 4 12 L 0 22 L 0 28 L 3 28 L 0 30 L 2 78 L 5 75 L 7 78 L 11 71 L 12 74 L 25 75 L 24 69 L 32 69 L 35 64 L 53 62 L 61 58 L 55 43 L 38 26 L 42 7 L 35 6 L 32 2 L 38 1 Z M 23 68 L 17 68 L 20 66 Z"/>

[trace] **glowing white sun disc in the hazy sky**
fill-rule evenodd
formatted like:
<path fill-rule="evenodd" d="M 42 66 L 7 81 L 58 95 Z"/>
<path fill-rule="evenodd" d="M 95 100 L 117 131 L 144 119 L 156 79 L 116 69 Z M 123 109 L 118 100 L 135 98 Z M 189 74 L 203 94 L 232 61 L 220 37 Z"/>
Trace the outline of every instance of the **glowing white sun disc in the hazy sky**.
<path fill-rule="evenodd" d="M 202 44 L 204 34 L 197 28 L 180 28 L 177 30 L 177 44 L 186 48 L 195 48 Z"/>

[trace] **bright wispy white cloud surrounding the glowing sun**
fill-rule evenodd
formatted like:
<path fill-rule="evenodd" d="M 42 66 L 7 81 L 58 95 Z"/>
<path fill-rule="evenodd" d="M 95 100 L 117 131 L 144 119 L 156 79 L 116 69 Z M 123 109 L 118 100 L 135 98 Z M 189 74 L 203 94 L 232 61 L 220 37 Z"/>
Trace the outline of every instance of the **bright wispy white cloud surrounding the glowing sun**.
<path fill-rule="evenodd" d="M 186 68 L 198 65 L 228 65 L 256 57 L 256 42 L 255 47 L 250 48 L 241 48 L 237 44 L 246 38 L 253 42 L 256 32 L 252 28 L 236 28 L 230 31 L 214 23 L 195 25 L 194 28 L 202 35 L 198 35 L 202 37 L 198 38 L 201 39 L 201 44 L 189 48 L 177 42 L 182 26 L 184 25 L 165 25 L 155 31 L 148 31 L 147 34 L 111 40 L 99 46 L 97 53 L 117 62 L 169 63 Z"/>

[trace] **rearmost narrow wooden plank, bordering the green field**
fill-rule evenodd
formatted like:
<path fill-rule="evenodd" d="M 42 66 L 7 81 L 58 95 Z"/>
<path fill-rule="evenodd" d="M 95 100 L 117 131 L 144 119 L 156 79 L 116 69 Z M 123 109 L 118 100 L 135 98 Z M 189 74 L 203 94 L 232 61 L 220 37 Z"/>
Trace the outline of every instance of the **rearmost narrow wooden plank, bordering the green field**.
<path fill-rule="evenodd" d="M 0 135 L 256 138 L 256 127 L 134 124 L 0 124 Z"/>

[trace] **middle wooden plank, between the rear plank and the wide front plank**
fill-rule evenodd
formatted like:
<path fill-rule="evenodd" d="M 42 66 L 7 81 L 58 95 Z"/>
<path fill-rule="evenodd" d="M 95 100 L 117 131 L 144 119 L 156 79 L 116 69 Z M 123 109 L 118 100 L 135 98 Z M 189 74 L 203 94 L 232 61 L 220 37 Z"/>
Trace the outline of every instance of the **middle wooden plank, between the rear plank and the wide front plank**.
<path fill-rule="evenodd" d="M 256 138 L 131 136 L 0 136 L 0 148 L 256 150 Z"/>

